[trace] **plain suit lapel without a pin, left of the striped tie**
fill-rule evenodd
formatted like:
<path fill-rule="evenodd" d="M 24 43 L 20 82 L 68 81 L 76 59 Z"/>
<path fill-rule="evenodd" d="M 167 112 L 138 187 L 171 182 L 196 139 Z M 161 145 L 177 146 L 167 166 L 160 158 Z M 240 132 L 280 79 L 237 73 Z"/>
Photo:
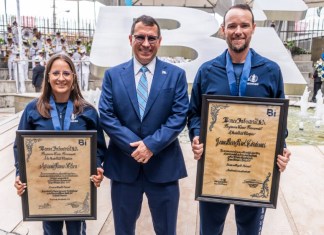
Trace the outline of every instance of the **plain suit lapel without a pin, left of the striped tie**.
<path fill-rule="evenodd" d="M 130 60 L 125 65 L 125 67 L 121 71 L 120 75 L 123 80 L 125 89 L 127 90 L 128 97 L 134 107 L 134 110 L 135 110 L 138 118 L 140 118 L 139 106 L 138 106 L 137 94 L 136 94 L 133 60 Z"/>

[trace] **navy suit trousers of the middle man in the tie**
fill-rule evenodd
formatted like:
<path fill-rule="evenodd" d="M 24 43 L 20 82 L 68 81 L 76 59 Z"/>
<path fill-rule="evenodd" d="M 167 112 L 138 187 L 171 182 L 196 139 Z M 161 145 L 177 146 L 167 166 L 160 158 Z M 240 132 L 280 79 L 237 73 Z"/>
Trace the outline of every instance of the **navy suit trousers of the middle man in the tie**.
<path fill-rule="evenodd" d="M 116 235 L 134 235 L 140 216 L 143 193 L 146 194 L 154 231 L 175 235 L 179 205 L 179 183 L 152 183 L 141 171 L 134 183 L 111 181 L 111 200 Z"/>

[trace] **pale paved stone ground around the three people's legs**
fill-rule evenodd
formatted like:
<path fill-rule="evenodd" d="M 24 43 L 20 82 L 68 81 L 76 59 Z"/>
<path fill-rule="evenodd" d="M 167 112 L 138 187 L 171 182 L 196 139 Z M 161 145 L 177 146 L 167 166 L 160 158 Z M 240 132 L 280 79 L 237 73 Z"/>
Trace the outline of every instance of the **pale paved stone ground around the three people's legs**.
<path fill-rule="evenodd" d="M 5 114 L 4 114 L 5 113 Z M 19 117 L 0 112 L 0 235 L 42 234 L 40 222 L 23 222 L 20 198 L 13 187 L 14 167 L 12 142 Z M 181 180 L 178 234 L 198 234 L 198 206 L 194 200 L 196 162 L 190 144 L 182 137 L 189 176 Z M 317 235 L 324 234 L 324 143 L 322 146 L 289 146 L 292 159 L 281 175 L 277 209 L 268 209 L 262 234 Z M 224 235 L 236 234 L 234 211 L 231 208 Z M 87 222 L 87 234 L 114 234 L 109 194 L 109 180 L 98 189 L 98 219 Z M 137 223 L 137 235 L 152 235 L 151 217 L 144 202 Z"/>

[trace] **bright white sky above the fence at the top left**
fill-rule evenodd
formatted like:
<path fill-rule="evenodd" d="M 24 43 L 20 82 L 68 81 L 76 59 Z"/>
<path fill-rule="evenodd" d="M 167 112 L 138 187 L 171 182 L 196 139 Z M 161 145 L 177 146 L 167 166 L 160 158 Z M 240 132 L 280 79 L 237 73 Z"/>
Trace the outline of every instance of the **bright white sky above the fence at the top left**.
<path fill-rule="evenodd" d="M 77 1 L 64 0 L 19 0 L 20 15 L 52 18 L 54 1 L 57 18 L 77 19 Z M 5 14 L 5 2 L 7 4 L 7 15 L 16 15 L 17 0 L 0 0 L 0 15 Z M 101 6 L 103 5 L 99 2 L 79 1 L 80 19 L 94 20 Z"/>

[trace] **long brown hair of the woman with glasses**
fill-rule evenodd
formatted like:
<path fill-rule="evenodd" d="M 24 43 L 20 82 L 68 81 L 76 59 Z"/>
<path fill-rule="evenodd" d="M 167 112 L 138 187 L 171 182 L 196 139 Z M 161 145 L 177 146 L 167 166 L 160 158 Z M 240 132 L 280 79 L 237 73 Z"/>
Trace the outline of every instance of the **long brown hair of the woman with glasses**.
<path fill-rule="evenodd" d="M 53 55 L 46 64 L 44 80 L 42 85 L 42 93 L 37 101 L 37 111 L 45 118 L 50 118 L 50 110 L 53 108 L 50 105 L 50 97 L 52 95 L 52 87 L 49 82 L 49 72 L 51 71 L 52 65 L 56 60 L 63 60 L 68 63 L 72 73 L 73 73 L 73 82 L 72 82 L 72 90 L 70 93 L 69 99 L 73 103 L 73 113 L 80 114 L 83 112 L 84 107 L 91 106 L 82 96 L 81 90 L 78 84 L 77 72 L 75 66 L 70 59 L 65 54 L 55 54 Z"/>

